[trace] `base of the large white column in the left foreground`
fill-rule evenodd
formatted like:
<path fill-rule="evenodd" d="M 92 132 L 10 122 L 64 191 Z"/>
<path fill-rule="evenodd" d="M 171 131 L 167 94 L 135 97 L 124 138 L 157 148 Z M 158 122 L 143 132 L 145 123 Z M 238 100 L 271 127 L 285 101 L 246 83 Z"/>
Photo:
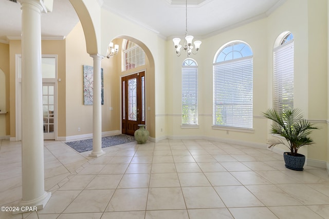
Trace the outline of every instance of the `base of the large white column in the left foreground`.
<path fill-rule="evenodd" d="M 51 192 L 45 192 L 41 197 L 36 198 L 31 201 L 23 201 L 21 200 L 19 203 L 19 210 L 12 212 L 12 214 L 20 214 L 29 211 L 38 211 L 44 209 L 47 202 L 49 201 L 51 196 Z"/>

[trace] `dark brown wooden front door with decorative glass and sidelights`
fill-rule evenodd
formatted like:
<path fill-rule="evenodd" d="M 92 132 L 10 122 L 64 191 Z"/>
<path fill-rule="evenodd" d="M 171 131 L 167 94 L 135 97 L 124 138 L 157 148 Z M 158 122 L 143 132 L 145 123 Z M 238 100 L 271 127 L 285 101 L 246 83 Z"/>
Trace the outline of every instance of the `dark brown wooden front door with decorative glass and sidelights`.
<path fill-rule="evenodd" d="M 134 135 L 139 124 L 145 125 L 145 72 L 121 78 L 122 134 Z"/>

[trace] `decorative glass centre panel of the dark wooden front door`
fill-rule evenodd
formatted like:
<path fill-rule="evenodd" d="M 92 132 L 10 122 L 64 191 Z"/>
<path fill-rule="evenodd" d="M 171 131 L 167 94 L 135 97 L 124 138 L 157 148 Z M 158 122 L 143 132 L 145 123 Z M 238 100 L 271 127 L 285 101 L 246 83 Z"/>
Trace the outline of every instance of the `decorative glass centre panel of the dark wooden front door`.
<path fill-rule="evenodd" d="M 128 120 L 137 121 L 137 78 L 128 80 Z"/>

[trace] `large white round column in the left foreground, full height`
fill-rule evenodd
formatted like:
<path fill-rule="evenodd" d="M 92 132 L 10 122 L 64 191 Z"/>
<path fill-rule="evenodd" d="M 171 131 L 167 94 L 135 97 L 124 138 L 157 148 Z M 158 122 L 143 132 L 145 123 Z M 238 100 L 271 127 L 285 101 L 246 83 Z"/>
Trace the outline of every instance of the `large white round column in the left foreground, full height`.
<path fill-rule="evenodd" d="M 43 209 L 51 193 L 45 191 L 41 75 L 41 12 L 43 1 L 22 5 L 22 200 L 21 211 Z"/>

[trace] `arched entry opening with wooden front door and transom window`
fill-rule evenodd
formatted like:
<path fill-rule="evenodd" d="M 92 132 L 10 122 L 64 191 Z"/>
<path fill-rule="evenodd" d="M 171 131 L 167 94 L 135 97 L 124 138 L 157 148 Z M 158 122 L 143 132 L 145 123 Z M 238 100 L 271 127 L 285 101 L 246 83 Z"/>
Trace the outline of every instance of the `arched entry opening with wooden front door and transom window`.
<path fill-rule="evenodd" d="M 119 52 L 107 59 L 108 61 L 103 61 L 102 66 L 109 65 L 111 74 L 116 75 L 115 83 L 120 82 L 119 87 L 117 84 L 112 84 L 113 86 L 110 87 L 111 90 L 114 88 L 116 93 L 120 93 L 117 103 L 120 105 L 121 132 L 134 135 L 138 125 L 144 124 L 153 137 L 155 136 L 153 55 L 145 44 L 130 36 L 117 36 L 112 42 L 119 45 Z"/>

